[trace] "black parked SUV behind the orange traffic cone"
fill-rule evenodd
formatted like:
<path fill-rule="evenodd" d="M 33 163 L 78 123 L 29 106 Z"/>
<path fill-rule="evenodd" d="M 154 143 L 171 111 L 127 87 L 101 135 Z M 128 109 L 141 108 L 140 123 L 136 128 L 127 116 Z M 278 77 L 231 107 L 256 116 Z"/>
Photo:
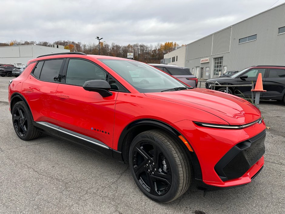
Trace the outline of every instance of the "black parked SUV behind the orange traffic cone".
<path fill-rule="evenodd" d="M 255 84 L 258 74 L 262 74 L 263 89 L 260 93 L 263 100 L 283 100 L 285 103 L 285 66 L 252 66 L 233 76 L 214 78 L 207 81 L 218 82 L 221 85 L 247 85 Z M 206 82 L 206 88 L 211 89 L 210 82 Z M 216 87 L 215 90 L 226 92 L 226 87 Z M 251 87 L 229 87 L 230 94 L 251 97 Z"/>

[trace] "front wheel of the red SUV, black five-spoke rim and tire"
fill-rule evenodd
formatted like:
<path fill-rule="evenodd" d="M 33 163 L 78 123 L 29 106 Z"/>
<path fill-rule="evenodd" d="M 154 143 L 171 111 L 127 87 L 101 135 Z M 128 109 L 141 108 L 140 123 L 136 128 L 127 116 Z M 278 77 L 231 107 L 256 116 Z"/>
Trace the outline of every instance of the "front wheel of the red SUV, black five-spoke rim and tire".
<path fill-rule="evenodd" d="M 168 203 L 183 195 L 191 183 L 191 164 L 182 145 L 160 130 L 144 131 L 129 149 L 131 174 L 150 199 Z"/>

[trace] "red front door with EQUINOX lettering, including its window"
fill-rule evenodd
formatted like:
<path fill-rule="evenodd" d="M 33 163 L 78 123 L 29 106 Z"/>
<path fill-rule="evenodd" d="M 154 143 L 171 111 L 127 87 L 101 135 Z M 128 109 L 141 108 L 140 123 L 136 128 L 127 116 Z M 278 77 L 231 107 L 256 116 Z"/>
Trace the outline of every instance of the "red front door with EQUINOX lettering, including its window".
<path fill-rule="evenodd" d="M 67 59 L 66 64 L 68 66 L 63 71 L 62 83 L 56 93 L 59 135 L 65 137 L 68 132 L 88 142 L 99 141 L 99 144 L 112 147 L 118 92 L 102 97 L 82 87 L 88 80 L 107 80 L 108 73 L 95 63 L 83 59 Z"/>

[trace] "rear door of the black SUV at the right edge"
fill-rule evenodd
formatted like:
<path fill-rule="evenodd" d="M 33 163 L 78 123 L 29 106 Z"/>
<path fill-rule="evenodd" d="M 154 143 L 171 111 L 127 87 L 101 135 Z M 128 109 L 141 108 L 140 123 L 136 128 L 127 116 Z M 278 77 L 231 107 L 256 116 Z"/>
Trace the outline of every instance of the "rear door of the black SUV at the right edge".
<path fill-rule="evenodd" d="M 263 84 L 263 98 L 281 100 L 285 93 L 285 69 L 269 68 Z"/>

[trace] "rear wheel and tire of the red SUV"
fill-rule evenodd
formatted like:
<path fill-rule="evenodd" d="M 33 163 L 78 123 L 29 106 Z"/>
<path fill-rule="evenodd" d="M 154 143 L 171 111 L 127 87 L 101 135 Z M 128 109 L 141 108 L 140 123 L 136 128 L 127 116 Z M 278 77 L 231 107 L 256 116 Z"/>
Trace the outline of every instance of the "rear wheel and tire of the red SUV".
<path fill-rule="evenodd" d="M 17 102 L 12 110 L 13 127 L 19 138 L 28 141 L 40 136 L 39 130 L 32 124 L 32 118 L 25 102 Z"/>

